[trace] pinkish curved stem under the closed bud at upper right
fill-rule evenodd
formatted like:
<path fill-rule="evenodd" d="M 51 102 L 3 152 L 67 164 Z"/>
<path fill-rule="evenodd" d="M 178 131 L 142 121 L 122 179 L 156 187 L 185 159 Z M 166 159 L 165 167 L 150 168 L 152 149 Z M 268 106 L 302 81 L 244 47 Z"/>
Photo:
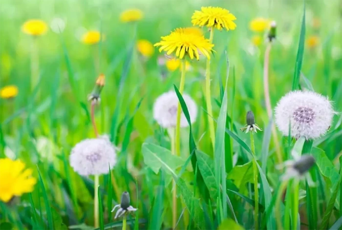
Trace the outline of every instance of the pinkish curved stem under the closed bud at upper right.
<path fill-rule="evenodd" d="M 271 51 L 272 43 L 269 42 L 266 50 L 265 50 L 265 58 L 264 58 L 264 96 L 265 96 L 265 104 L 266 104 L 266 110 L 268 118 L 272 117 L 272 106 L 271 106 L 271 99 L 270 99 L 270 89 L 268 84 L 268 69 L 269 69 L 269 63 L 270 63 L 270 51 Z M 272 124 L 272 135 L 274 138 L 274 144 L 276 146 L 276 153 L 278 158 L 278 164 L 282 163 L 282 156 L 281 156 L 281 150 L 278 143 L 278 134 L 276 130 L 276 126 L 274 123 Z"/>

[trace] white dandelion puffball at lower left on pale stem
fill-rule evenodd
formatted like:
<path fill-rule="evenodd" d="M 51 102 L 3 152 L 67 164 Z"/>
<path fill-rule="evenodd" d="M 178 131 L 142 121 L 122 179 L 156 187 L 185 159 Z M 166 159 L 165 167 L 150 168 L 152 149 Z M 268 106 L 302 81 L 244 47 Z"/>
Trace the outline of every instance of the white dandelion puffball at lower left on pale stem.
<path fill-rule="evenodd" d="M 85 139 L 71 150 L 70 166 L 80 175 L 101 175 L 116 164 L 116 152 L 108 136 Z"/>

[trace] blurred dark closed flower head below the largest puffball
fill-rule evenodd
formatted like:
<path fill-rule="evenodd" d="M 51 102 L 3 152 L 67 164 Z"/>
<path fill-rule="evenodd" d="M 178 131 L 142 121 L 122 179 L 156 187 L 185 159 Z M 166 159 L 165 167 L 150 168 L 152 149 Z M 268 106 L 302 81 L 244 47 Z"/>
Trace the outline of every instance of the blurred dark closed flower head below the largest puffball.
<path fill-rule="evenodd" d="M 315 165 L 315 163 L 315 158 L 309 154 L 302 155 L 295 160 L 288 160 L 284 162 L 283 166 L 281 166 L 286 168 L 286 171 L 282 175 L 281 179 L 287 181 L 291 178 L 303 179 L 306 177 L 308 182 L 311 184 L 311 178 L 307 177 L 306 172 L 308 172 L 309 169 Z"/>

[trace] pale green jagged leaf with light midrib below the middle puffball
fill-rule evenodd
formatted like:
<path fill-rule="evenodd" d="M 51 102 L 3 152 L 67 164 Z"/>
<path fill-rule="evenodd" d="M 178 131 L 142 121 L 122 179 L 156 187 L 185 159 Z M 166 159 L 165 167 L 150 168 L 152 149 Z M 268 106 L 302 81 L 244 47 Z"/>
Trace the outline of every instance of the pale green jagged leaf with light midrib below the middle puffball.
<path fill-rule="evenodd" d="M 175 169 L 184 164 L 184 160 L 172 155 L 167 148 L 151 143 L 144 143 L 142 146 L 144 162 L 154 173 L 158 173 L 160 168 L 164 168 L 167 173 L 177 175 Z"/>

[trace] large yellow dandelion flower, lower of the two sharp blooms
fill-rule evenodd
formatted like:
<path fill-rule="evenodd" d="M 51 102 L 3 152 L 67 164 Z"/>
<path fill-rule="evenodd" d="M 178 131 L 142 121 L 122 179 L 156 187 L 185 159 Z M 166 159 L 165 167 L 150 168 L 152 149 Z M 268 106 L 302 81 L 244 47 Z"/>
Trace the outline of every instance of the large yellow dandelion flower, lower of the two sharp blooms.
<path fill-rule="evenodd" d="M 184 28 L 177 28 L 170 35 L 161 37 L 162 41 L 154 46 L 161 46 L 159 52 L 165 51 L 170 55 L 175 51 L 176 57 L 183 59 L 188 55 L 191 59 L 199 60 L 199 53 L 210 59 L 210 52 L 213 52 L 214 44 L 203 35 L 198 35 Z"/>

